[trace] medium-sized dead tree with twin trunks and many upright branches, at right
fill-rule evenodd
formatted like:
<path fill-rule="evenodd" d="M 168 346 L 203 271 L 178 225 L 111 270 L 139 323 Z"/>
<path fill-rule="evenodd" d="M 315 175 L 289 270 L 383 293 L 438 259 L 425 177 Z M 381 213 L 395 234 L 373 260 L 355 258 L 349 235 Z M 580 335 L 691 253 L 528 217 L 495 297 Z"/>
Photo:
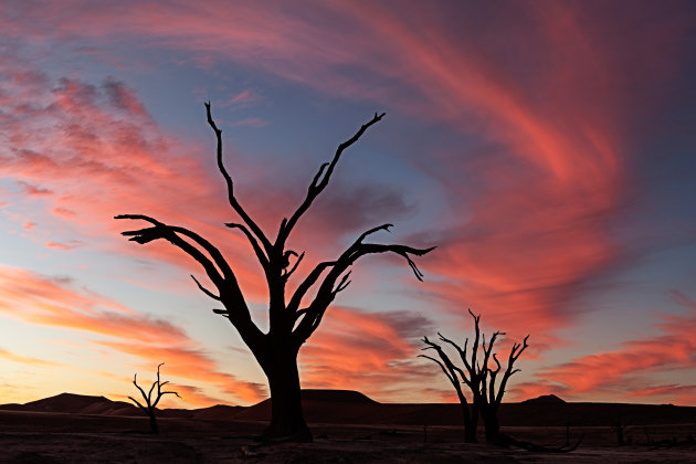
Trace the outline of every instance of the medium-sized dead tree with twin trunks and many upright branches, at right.
<path fill-rule="evenodd" d="M 500 423 L 498 421 L 498 409 L 503 401 L 503 394 L 505 394 L 507 381 L 515 372 L 519 371 L 519 369 L 514 369 L 513 366 L 523 351 L 527 349 L 529 335 L 525 337 L 521 344 L 513 344 L 513 348 L 507 358 L 507 367 L 503 371 L 503 377 L 496 386 L 502 366 L 498 361 L 497 354 L 493 352 L 493 348 L 497 338 L 505 335 L 505 333 L 495 331 L 488 340 L 488 344 L 486 344 L 486 336 L 481 334 L 481 316 L 476 316 L 471 309 L 468 314 L 474 318 L 475 329 L 474 342 L 471 346 L 471 350 L 467 348 L 468 338 L 464 340 L 464 348 L 462 348 L 456 342 L 437 333 L 441 341 L 451 345 L 456 350 L 464 368 L 454 365 L 442 347 L 429 340 L 428 337 L 423 338 L 423 342 L 426 345 L 423 349 L 435 350 L 440 360 L 426 355 L 420 356 L 436 362 L 454 386 L 464 412 L 465 441 L 470 443 L 476 442 L 476 425 L 478 414 L 481 414 L 484 419 L 486 441 L 489 443 L 499 443 Z M 467 351 L 471 351 L 471 354 Z M 482 354 L 482 359 L 478 359 L 479 352 Z M 495 363 L 495 368 L 492 368 L 493 363 Z M 462 383 L 468 388 L 472 396 L 473 407 L 471 414 L 466 396 L 462 391 Z"/>

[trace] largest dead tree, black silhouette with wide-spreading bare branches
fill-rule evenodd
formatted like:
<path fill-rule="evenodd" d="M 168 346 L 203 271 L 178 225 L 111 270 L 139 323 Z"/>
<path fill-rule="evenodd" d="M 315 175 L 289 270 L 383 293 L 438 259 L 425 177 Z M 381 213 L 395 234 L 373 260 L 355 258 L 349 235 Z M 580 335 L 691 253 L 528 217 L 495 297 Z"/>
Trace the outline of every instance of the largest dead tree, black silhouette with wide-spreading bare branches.
<path fill-rule="evenodd" d="M 213 309 L 213 312 L 230 320 L 268 379 L 272 419 L 263 436 L 266 439 L 310 441 L 312 434 L 302 411 L 297 354 L 302 345 L 321 323 L 326 309 L 336 295 L 350 284 L 350 266 L 358 259 L 368 254 L 396 253 L 407 260 L 415 277 L 420 281 L 423 275 L 411 256 L 422 256 L 433 247 L 414 249 L 401 244 L 365 243 L 369 235 L 379 231 L 388 231 L 391 224 L 376 226 L 358 236 L 337 259 L 317 264 L 299 282 L 289 298 L 286 298 L 286 284 L 305 256 L 305 252 L 298 255 L 287 247 L 291 232 L 295 230 L 302 217 L 328 184 L 341 154 L 355 144 L 370 126 L 378 123 L 384 114 L 378 115 L 376 113 L 375 117 L 363 124 L 352 137 L 338 146 L 334 158 L 319 167 L 302 203 L 292 212 L 289 218 L 284 218 L 281 221 L 275 239 L 272 240 L 239 202 L 232 177 L 222 161 L 222 130 L 218 128 L 212 118 L 210 103 L 205 104 L 205 110 L 208 124 L 217 137 L 218 168 L 226 183 L 228 201 L 241 219 L 241 222 L 230 222 L 225 225 L 240 231 L 245 236 L 263 268 L 268 288 L 268 331 L 263 333 L 252 320 L 246 299 L 232 266 L 223 257 L 220 250 L 208 240 L 188 229 L 168 225 L 143 214 L 117 215 L 116 219 L 141 220 L 150 224 L 146 229 L 123 232 L 124 235 L 130 236 L 129 240 L 139 244 L 160 239 L 166 240 L 201 264 L 210 282 L 217 288 L 217 293 L 205 288 L 192 276 L 193 281 L 201 292 L 224 306 L 223 309 Z M 291 262 L 293 259 L 294 263 Z M 310 297 L 309 291 L 313 288 L 316 291 Z"/>

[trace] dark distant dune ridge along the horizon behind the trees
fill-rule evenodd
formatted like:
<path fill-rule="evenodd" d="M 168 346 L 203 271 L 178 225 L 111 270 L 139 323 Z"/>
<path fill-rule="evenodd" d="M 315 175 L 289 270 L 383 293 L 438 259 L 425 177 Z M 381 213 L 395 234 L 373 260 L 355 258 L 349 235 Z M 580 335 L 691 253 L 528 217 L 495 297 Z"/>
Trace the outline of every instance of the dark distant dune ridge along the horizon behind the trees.
<path fill-rule="evenodd" d="M 305 418 L 312 423 L 460 425 L 457 403 L 379 403 L 352 390 L 303 390 Z M 0 410 L 93 415 L 139 416 L 141 412 L 124 401 L 104 397 L 61 393 L 25 404 L 2 404 Z M 164 409 L 162 418 L 197 420 L 267 421 L 271 400 L 251 407 L 217 404 L 201 409 Z M 671 404 L 572 403 L 546 394 L 520 403 L 504 403 L 503 425 L 611 425 L 618 419 L 629 424 L 679 424 L 696 422 L 696 408 Z"/>

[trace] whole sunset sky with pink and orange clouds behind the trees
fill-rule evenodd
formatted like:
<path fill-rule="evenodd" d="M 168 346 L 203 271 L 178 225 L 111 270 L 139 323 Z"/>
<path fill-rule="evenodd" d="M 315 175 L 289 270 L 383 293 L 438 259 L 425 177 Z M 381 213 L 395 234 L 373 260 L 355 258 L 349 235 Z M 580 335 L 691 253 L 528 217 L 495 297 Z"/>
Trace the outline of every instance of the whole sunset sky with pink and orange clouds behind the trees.
<path fill-rule="evenodd" d="M 416 358 L 440 330 L 530 334 L 508 400 L 696 405 L 696 4 L 689 1 L 3 1 L 0 403 L 124 399 L 160 362 L 182 400 L 265 377 L 199 265 L 119 233 L 141 213 L 224 250 L 260 326 L 266 233 L 368 122 L 289 246 L 297 275 L 371 240 L 300 350 L 305 388 L 456 401 Z"/>

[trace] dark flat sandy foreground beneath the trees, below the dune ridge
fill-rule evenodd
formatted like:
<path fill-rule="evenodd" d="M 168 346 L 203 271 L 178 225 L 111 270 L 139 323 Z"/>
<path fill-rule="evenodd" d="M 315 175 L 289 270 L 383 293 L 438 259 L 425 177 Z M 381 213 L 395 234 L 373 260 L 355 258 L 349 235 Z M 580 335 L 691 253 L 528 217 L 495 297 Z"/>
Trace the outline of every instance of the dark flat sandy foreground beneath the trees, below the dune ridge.
<path fill-rule="evenodd" d="M 584 435 L 570 454 L 539 454 L 460 443 L 457 428 L 313 424 L 315 442 L 260 445 L 264 424 L 240 421 L 160 420 L 161 435 L 144 418 L 0 412 L 3 463 L 696 463 L 696 446 L 615 446 L 609 428 L 570 430 Z M 687 436 L 694 424 L 635 428 L 652 440 Z M 510 435 L 563 444 L 565 428 L 509 428 Z M 424 442 L 428 440 L 428 442 Z"/>

